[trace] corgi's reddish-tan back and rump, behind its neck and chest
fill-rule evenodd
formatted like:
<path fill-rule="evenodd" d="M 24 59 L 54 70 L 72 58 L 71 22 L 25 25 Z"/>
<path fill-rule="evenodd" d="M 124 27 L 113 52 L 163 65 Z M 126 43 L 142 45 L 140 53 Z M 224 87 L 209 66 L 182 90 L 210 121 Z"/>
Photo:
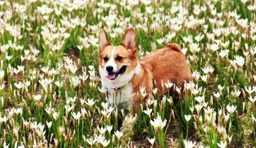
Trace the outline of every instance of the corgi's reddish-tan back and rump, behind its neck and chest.
<path fill-rule="evenodd" d="M 159 89 L 162 89 L 161 81 L 169 80 L 183 86 L 184 81 L 188 82 L 191 79 L 185 55 L 177 44 L 169 44 L 161 49 L 156 49 L 140 58 L 139 61 L 141 64 L 151 67 L 156 87 Z"/>

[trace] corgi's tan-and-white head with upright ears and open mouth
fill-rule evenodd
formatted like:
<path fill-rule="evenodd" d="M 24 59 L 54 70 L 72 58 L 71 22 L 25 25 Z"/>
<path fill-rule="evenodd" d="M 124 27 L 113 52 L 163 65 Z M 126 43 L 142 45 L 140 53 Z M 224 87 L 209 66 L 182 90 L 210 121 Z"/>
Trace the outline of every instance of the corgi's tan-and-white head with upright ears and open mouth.
<path fill-rule="evenodd" d="M 137 36 L 129 29 L 119 46 L 113 46 L 104 31 L 99 32 L 99 68 L 102 77 L 115 80 L 123 74 L 135 71 L 138 57 L 136 54 Z"/>

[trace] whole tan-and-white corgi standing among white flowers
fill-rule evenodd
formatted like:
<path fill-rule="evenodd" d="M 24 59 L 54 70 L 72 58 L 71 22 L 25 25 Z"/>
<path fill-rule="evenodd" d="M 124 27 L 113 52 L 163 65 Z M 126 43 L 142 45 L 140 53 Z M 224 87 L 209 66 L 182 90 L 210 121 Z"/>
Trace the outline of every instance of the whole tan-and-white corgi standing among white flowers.
<path fill-rule="evenodd" d="M 140 89 L 150 94 L 154 88 L 158 93 L 169 90 L 163 82 L 183 86 L 190 81 L 190 68 L 179 45 L 169 44 L 138 58 L 137 36 L 130 28 L 119 46 L 113 46 L 104 31 L 99 32 L 99 74 L 111 105 L 130 107 L 138 112 L 143 100 Z M 133 98 L 131 100 L 131 98 Z"/>

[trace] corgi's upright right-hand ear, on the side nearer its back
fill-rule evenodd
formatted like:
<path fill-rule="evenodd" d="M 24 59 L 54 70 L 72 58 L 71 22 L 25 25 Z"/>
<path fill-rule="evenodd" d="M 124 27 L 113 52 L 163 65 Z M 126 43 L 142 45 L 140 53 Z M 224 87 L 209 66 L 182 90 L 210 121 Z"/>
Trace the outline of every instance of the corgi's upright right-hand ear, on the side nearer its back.
<path fill-rule="evenodd" d="M 124 46 L 126 49 L 136 51 L 137 36 L 136 36 L 135 30 L 133 28 L 130 28 L 129 30 L 126 31 L 121 45 Z"/>

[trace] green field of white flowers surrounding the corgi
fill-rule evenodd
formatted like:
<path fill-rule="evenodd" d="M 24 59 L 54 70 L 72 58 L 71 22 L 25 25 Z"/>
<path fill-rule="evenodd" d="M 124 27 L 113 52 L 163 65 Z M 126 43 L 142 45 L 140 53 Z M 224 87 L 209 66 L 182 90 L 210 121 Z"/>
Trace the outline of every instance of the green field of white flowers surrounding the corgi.
<path fill-rule="evenodd" d="M 255 147 L 255 18 L 252 0 L 1 0 L 0 146 Z M 177 43 L 194 80 L 109 105 L 101 28 L 134 28 L 139 57 Z"/>

